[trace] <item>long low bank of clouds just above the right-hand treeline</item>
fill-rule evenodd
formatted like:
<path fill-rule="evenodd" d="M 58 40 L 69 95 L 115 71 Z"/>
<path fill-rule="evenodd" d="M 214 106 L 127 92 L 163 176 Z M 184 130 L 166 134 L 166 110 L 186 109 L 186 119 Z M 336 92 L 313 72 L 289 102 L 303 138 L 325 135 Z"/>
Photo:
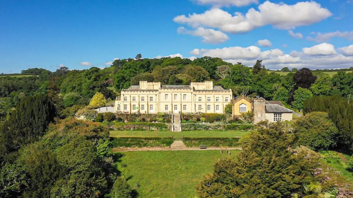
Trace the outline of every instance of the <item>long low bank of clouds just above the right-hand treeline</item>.
<path fill-rule="evenodd" d="M 292 51 L 285 54 L 280 49 L 261 51 L 256 46 L 250 47 L 227 47 L 222 49 L 199 49 L 200 56 L 220 57 L 230 63 L 241 62 L 246 66 L 252 66 L 256 60 L 263 60 L 268 69 L 281 69 L 283 67 L 311 69 L 323 68 L 347 68 L 352 67 L 353 51 L 352 46 L 338 48 L 342 54 L 337 54 L 334 46 L 322 43 L 310 48 L 303 48 L 302 51 Z"/>

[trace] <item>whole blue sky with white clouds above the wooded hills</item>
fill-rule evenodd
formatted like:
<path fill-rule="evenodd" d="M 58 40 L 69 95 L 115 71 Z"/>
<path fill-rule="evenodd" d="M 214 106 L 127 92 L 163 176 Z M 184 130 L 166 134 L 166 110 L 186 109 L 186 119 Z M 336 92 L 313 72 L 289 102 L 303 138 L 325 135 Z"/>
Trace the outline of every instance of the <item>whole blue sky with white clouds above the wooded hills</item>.
<path fill-rule="evenodd" d="M 103 68 L 138 53 L 351 67 L 352 10 L 352 0 L 0 0 L 0 73 Z"/>

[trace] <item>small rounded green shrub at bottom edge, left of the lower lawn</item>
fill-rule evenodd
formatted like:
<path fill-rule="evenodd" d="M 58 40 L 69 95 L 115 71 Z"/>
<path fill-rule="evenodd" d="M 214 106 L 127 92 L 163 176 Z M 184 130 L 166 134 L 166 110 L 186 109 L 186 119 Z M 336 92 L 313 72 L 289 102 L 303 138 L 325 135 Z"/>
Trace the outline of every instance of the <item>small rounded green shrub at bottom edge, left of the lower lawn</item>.
<path fill-rule="evenodd" d="M 113 190 L 110 194 L 112 198 L 121 198 L 121 197 L 132 198 L 133 197 L 133 191 L 130 185 L 127 183 L 126 179 L 122 176 L 116 178 L 113 185 Z"/>

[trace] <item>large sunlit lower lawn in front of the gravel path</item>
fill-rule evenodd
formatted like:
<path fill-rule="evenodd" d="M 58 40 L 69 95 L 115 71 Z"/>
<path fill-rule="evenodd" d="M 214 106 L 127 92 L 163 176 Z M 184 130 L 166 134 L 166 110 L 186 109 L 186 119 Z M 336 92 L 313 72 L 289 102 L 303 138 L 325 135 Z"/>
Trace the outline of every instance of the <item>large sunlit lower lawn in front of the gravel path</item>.
<path fill-rule="evenodd" d="M 231 151 L 237 154 L 240 151 Z M 118 153 L 121 154 L 121 153 Z M 120 171 L 132 188 L 137 184 L 138 197 L 193 197 L 197 185 L 213 170 L 220 157 L 218 150 L 208 151 L 130 151 L 122 153 Z"/>

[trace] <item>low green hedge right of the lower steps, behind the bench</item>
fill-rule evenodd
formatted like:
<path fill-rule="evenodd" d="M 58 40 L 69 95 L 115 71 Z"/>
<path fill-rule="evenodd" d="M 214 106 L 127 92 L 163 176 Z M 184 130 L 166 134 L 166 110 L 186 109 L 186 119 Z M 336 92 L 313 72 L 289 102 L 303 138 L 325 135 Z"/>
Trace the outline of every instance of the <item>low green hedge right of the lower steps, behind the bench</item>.
<path fill-rule="evenodd" d="M 207 147 L 238 147 L 239 137 L 234 138 L 214 138 L 214 137 L 185 137 L 183 142 L 186 147 L 199 147 L 205 144 Z"/>

